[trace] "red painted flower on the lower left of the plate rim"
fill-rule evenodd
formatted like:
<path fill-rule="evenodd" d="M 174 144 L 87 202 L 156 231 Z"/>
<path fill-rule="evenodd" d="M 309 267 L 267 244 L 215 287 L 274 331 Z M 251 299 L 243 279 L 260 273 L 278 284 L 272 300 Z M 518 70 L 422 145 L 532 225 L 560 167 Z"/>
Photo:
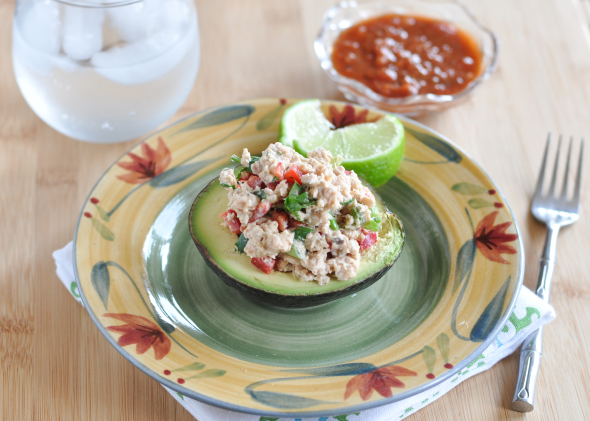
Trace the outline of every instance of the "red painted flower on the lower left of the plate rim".
<path fill-rule="evenodd" d="M 125 322 L 119 326 L 107 326 L 109 332 L 122 333 L 117 341 L 121 346 L 136 344 L 135 352 L 143 354 L 154 348 L 156 360 L 164 358 L 172 347 L 172 342 L 160 327 L 142 316 L 127 313 L 106 313 L 104 317 Z"/>

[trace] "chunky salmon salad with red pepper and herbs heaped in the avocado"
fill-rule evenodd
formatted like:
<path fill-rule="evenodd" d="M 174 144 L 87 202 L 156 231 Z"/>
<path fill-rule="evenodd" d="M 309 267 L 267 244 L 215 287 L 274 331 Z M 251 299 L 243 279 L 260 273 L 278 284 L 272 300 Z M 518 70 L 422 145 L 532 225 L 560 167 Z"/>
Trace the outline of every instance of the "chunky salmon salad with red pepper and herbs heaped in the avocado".
<path fill-rule="evenodd" d="M 244 149 L 231 160 L 239 166 L 219 176 L 229 200 L 222 225 L 255 267 L 320 285 L 356 276 L 361 256 L 378 241 L 381 215 L 340 157 L 317 148 L 306 158 L 274 143 L 261 156 Z"/>

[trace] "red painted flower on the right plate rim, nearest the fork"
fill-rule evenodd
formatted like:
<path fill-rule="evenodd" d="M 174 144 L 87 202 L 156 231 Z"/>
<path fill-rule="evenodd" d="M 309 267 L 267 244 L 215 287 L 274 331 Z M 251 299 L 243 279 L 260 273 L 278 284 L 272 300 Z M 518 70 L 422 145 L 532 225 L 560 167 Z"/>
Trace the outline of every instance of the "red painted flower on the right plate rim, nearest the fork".
<path fill-rule="evenodd" d="M 475 243 L 481 253 L 492 262 L 509 264 L 502 254 L 516 254 L 516 249 L 506 243 L 518 238 L 516 234 L 506 234 L 506 229 L 512 222 L 504 222 L 494 225 L 499 211 L 492 212 L 484 217 L 475 230 Z"/>

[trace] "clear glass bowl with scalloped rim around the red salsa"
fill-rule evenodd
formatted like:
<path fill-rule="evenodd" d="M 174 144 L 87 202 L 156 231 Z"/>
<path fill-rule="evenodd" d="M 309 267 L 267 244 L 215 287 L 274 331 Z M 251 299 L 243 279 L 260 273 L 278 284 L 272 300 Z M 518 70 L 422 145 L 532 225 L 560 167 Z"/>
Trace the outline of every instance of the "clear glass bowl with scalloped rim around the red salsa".
<path fill-rule="evenodd" d="M 434 18 L 450 22 L 467 32 L 477 41 L 482 53 L 478 76 L 462 91 L 453 95 L 420 94 L 390 98 L 378 94 L 357 80 L 338 73 L 332 63 L 332 50 L 340 33 L 360 21 L 389 13 Z M 322 68 L 336 82 L 338 89 L 348 100 L 366 107 L 380 108 L 409 116 L 440 111 L 464 100 L 492 74 L 498 63 L 496 35 L 479 23 L 465 6 L 448 0 L 390 0 L 363 3 L 343 1 L 324 15 L 324 22 L 314 47 Z"/>

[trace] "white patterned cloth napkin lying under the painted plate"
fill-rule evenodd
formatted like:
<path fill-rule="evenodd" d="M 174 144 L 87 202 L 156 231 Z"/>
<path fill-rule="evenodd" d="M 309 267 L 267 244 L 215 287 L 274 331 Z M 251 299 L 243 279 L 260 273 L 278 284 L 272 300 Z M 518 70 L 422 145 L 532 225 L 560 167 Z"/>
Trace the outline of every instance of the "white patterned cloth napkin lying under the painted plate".
<path fill-rule="evenodd" d="M 74 277 L 73 244 L 69 243 L 61 250 L 53 252 L 53 258 L 57 266 L 57 276 L 70 291 L 73 297 L 82 304 L 78 286 Z M 378 408 L 369 409 L 360 413 L 338 415 L 336 417 L 297 418 L 295 421 L 385 421 L 403 419 L 414 412 L 434 402 L 459 383 L 485 371 L 512 354 L 524 341 L 529 333 L 555 319 L 555 311 L 551 305 L 533 294 L 528 288 L 523 287 L 514 307 L 509 321 L 496 340 L 468 367 L 464 368 L 447 381 L 433 387 L 419 395 L 414 395 L 403 401 L 395 402 Z M 516 375 L 516 373 L 515 373 Z M 175 392 L 164 386 L 173 397 L 187 411 L 199 421 L 286 421 L 293 418 L 264 417 L 239 412 L 228 411 L 207 405 Z"/>

